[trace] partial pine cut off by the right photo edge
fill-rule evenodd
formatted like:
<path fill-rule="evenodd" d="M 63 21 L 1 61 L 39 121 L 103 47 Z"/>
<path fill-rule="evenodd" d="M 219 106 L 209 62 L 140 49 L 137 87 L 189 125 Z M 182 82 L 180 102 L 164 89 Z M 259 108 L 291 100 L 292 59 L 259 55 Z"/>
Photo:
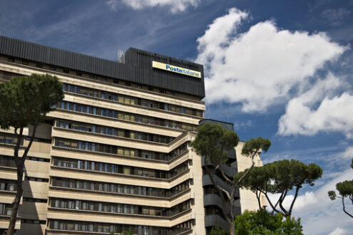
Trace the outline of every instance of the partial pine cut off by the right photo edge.
<path fill-rule="evenodd" d="M 353 169 L 353 159 L 352 159 L 352 163 L 351 163 L 351 168 Z M 329 198 L 331 200 L 334 200 L 336 198 L 342 199 L 342 209 L 343 209 L 344 213 L 346 213 L 348 216 L 351 216 L 353 218 L 353 214 L 350 214 L 346 210 L 346 205 L 344 204 L 344 198 L 345 197 L 348 197 L 349 200 L 353 204 L 353 179 L 352 180 L 346 180 L 344 182 L 339 182 L 338 184 L 336 184 L 336 189 L 339 192 L 340 197 L 338 197 L 336 195 L 336 192 L 329 191 L 329 192 L 327 192 L 329 194 Z"/>

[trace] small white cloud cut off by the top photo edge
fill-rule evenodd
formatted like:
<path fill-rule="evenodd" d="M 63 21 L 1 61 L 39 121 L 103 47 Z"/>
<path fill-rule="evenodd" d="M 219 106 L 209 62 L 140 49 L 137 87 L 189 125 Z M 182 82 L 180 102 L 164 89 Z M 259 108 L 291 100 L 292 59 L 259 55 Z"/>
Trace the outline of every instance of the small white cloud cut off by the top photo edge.
<path fill-rule="evenodd" d="M 188 6 L 198 6 L 199 0 L 121 0 L 123 4 L 132 9 L 140 10 L 154 6 L 165 6 L 173 14 L 185 11 Z M 118 0 L 107 1 L 108 6 L 114 11 L 117 9 Z"/>

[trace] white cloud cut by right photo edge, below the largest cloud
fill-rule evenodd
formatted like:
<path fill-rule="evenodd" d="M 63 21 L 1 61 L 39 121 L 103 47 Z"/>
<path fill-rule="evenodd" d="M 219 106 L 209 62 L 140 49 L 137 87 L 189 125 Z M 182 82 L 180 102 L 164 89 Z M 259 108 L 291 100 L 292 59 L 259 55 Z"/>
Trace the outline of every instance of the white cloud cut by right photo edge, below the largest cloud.
<path fill-rule="evenodd" d="M 344 85 L 334 75 L 327 75 L 309 90 L 287 105 L 285 115 L 278 122 L 280 135 L 316 135 L 320 131 L 344 132 L 352 137 L 353 131 L 353 95 L 342 93 L 333 96 L 334 90 Z M 313 108 L 314 105 L 319 106 Z"/>

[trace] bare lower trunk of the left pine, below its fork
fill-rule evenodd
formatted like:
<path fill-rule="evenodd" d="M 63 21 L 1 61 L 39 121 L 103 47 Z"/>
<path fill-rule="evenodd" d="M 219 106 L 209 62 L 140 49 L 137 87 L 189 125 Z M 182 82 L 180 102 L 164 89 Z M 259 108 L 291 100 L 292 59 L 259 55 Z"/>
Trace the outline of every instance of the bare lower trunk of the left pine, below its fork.
<path fill-rule="evenodd" d="M 17 165 L 17 164 L 16 164 Z M 24 177 L 24 164 L 20 162 L 17 165 L 17 192 L 14 202 L 12 203 L 12 211 L 9 229 L 7 230 L 7 235 L 12 235 L 15 233 L 16 217 L 19 211 L 19 203 L 21 201 L 22 194 L 24 189 L 22 189 L 22 178 Z"/>

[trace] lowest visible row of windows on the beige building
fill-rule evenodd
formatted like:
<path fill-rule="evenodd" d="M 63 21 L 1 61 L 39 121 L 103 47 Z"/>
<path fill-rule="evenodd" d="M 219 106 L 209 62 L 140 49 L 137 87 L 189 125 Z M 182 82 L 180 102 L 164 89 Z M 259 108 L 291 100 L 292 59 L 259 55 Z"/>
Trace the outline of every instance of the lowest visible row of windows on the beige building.
<path fill-rule="evenodd" d="M 186 221 L 171 228 L 158 226 L 141 226 L 131 224 L 108 224 L 83 221 L 65 221 L 49 219 L 50 229 L 74 230 L 74 231 L 98 231 L 122 233 L 123 231 L 132 231 L 138 235 L 175 235 L 192 229 L 192 221 Z"/>

